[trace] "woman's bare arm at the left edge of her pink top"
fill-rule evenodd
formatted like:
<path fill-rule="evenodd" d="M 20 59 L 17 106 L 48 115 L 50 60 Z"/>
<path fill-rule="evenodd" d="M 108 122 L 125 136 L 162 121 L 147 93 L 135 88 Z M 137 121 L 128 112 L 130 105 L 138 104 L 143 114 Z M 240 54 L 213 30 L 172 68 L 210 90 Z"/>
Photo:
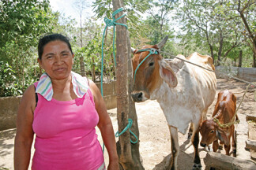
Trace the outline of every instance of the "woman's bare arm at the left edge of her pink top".
<path fill-rule="evenodd" d="M 17 131 L 14 142 L 14 169 L 28 169 L 34 132 L 33 111 L 36 108 L 35 87 L 31 85 L 21 98 L 17 113 Z"/>

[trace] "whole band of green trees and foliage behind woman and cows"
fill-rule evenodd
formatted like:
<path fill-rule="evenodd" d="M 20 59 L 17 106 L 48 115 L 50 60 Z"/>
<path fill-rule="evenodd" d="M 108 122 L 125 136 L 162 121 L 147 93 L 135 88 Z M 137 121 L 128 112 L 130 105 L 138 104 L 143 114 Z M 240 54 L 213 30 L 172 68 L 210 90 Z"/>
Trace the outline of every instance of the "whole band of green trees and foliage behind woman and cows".
<path fill-rule="evenodd" d="M 49 0 L 2 0 L 0 96 L 22 94 L 39 79 L 42 72 L 36 61 L 36 46 L 38 39 L 48 32 L 68 36 L 75 54 L 73 71 L 83 72 L 83 62 L 86 76 L 98 80 L 105 24 L 98 24 L 96 19 L 111 19 L 111 3 L 112 0 L 96 0 L 93 5 L 96 18 L 86 19 L 81 28 L 77 28 L 76 20 L 53 13 Z M 134 48 L 156 44 L 168 35 L 168 42 L 162 49 L 164 52 L 188 56 L 197 51 L 213 54 L 220 63 L 238 65 L 239 52 L 243 50 L 243 67 L 252 65 L 253 61 L 255 3 L 255 0 L 123 0 Z M 243 12 L 247 25 L 239 11 Z M 107 28 L 104 79 L 115 77 L 112 41 L 112 28 Z"/>

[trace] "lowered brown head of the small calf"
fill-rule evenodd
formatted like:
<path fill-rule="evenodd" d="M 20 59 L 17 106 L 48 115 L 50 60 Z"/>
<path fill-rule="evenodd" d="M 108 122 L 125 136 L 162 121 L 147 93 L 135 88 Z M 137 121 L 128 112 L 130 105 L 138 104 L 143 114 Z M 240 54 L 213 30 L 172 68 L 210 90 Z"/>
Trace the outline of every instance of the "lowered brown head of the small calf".
<path fill-rule="evenodd" d="M 203 121 L 199 129 L 201 134 L 200 145 L 203 147 L 209 146 L 217 139 L 227 146 L 230 144 L 226 133 L 212 119 Z"/>

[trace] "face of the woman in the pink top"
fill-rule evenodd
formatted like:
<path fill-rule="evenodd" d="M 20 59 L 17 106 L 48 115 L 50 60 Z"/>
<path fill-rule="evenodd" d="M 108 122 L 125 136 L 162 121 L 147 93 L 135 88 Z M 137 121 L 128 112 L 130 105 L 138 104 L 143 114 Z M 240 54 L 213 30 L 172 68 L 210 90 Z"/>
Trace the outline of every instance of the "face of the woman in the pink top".
<path fill-rule="evenodd" d="M 51 79 L 66 79 L 72 69 L 73 54 L 66 42 L 56 40 L 43 47 L 42 58 L 38 62 Z"/>

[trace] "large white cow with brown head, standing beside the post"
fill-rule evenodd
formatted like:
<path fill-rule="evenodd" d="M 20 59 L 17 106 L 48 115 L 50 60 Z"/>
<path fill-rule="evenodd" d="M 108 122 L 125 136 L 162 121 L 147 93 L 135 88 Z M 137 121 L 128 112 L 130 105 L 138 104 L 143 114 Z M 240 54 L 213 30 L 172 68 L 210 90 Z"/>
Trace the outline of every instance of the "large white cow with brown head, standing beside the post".
<path fill-rule="evenodd" d="M 160 49 L 164 46 L 168 37 L 158 45 L 143 46 L 142 49 Z M 209 105 L 212 104 L 216 94 L 216 76 L 214 72 L 191 65 L 175 58 L 172 61 L 164 60 L 160 54 L 152 54 L 147 57 L 149 51 L 134 50 L 133 68 L 134 102 L 144 102 L 148 99 L 156 99 L 159 102 L 164 116 L 168 122 L 171 134 L 171 169 L 177 169 L 179 155 L 178 131 L 185 134 L 192 123 L 194 127 L 192 143 L 194 145 L 194 169 L 201 169 L 201 161 L 198 155 L 199 130 L 202 117 L 205 116 Z M 145 59 L 145 57 L 147 57 Z M 209 56 L 198 53 L 190 57 L 178 57 L 194 62 L 210 70 L 214 70 L 213 60 Z M 145 61 L 143 61 L 145 59 Z M 143 63 L 141 63 L 143 61 Z"/>

